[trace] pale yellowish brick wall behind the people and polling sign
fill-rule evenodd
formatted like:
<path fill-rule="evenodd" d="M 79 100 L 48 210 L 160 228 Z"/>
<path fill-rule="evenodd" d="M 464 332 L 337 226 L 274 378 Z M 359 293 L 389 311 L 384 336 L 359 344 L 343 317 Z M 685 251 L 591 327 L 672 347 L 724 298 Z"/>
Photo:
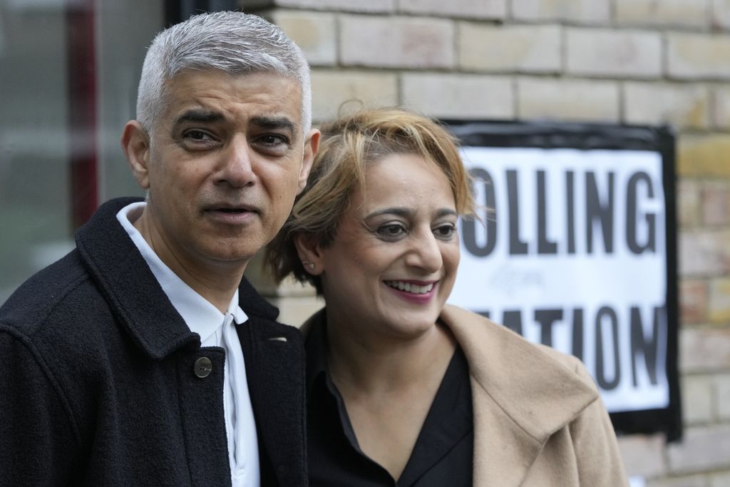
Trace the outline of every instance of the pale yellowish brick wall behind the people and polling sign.
<path fill-rule="evenodd" d="M 730 0 L 242 5 L 307 53 L 315 120 L 360 99 L 439 118 L 674 126 L 685 438 L 621 448 L 648 486 L 730 486 Z M 297 286 L 270 291 L 283 321 L 320 306 Z"/>

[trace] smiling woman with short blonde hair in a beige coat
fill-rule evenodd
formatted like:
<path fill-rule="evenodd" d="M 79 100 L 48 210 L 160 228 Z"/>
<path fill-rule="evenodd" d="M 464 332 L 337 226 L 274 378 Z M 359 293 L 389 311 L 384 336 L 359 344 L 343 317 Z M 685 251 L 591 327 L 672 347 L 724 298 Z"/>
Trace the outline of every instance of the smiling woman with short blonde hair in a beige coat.
<path fill-rule="evenodd" d="M 394 109 L 321 131 L 266 257 L 326 302 L 302 327 L 311 485 L 628 485 L 580 361 L 445 304 L 474 208 L 447 131 Z"/>

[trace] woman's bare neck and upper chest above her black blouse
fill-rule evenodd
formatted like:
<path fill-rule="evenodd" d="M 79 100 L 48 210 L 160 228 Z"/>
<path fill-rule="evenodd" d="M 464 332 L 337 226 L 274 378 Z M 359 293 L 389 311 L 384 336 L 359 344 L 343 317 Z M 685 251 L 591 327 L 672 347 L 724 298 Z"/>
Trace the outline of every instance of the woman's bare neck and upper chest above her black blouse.
<path fill-rule="evenodd" d="M 373 329 L 328 321 L 329 370 L 361 450 L 398 479 L 456 340 L 437 323 L 410 339 L 377 336 Z"/>

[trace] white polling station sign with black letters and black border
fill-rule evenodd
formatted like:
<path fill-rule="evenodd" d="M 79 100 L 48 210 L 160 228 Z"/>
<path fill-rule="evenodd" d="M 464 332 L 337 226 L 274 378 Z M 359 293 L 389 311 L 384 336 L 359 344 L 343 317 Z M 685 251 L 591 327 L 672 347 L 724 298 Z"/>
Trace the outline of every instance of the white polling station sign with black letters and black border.
<path fill-rule="evenodd" d="M 679 437 L 672 133 L 448 125 L 480 204 L 449 302 L 581 358 L 616 429 Z"/>

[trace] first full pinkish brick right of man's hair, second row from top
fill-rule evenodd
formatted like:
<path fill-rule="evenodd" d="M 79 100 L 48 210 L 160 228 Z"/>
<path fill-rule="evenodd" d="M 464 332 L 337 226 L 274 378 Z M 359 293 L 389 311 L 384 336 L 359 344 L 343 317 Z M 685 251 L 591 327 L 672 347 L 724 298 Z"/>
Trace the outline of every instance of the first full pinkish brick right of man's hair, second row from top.
<path fill-rule="evenodd" d="M 450 20 L 343 15 L 341 60 L 346 66 L 450 68 L 454 26 Z"/>

